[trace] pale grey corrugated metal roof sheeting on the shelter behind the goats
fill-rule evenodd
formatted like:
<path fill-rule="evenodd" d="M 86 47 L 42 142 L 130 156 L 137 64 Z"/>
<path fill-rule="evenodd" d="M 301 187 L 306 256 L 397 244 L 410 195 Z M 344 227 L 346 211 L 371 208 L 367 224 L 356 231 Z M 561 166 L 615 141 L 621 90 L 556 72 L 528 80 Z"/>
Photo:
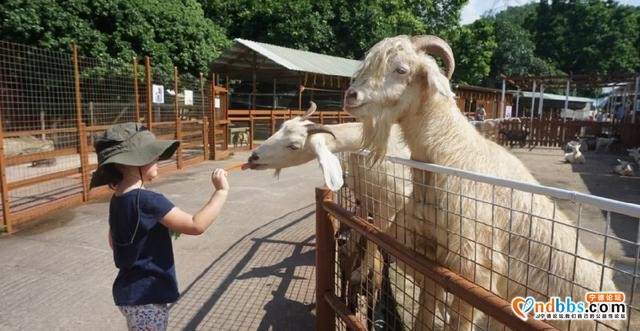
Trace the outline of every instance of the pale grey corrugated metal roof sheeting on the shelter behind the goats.
<path fill-rule="evenodd" d="M 245 47 L 266 57 L 277 66 L 290 71 L 309 72 L 328 76 L 351 77 L 360 66 L 360 61 L 337 56 L 301 51 L 240 38 L 236 38 L 235 41 L 235 45 L 225 50 L 220 57 L 214 61 L 214 66 L 237 66 L 246 69 L 246 62 L 239 63 L 242 61 L 236 60 L 237 53 L 241 51 L 240 48 Z M 275 69 L 273 64 L 266 64 L 262 62 L 261 65 L 263 67 L 269 67 L 269 69 Z M 261 66 L 258 66 L 257 69 L 260 70 Z"/>

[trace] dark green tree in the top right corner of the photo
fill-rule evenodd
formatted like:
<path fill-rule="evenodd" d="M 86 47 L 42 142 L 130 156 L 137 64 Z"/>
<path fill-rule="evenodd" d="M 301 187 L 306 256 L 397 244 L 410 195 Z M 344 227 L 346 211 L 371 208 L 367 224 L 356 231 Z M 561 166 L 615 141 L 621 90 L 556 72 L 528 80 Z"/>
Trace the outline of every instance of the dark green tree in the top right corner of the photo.
<path fill-rule="evenodd" d="M 541 1 L 532 31 L 537 54 L 566 73 L 640 70 L 640 8 L 616 1 Z"/>

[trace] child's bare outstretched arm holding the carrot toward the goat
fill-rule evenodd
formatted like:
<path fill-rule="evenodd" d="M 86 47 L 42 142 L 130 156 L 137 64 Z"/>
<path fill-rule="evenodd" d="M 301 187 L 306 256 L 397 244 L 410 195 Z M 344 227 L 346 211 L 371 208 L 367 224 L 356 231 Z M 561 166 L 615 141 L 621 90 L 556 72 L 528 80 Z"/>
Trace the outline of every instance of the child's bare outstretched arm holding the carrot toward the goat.
<path fill-rule="evenodd" d="M 211 175 L 211 181 L 216 188 L 209 202 L 202 207 L 195 215 L 182 211 L 174 207 L 160 221 L 167 228 L 184 234 L 199 235 L 207 228 L 220 214 L 222 205 L 227 200 L 229 183 L 227 182 L 227 172 L 223 169 L 216 169 Z"/>

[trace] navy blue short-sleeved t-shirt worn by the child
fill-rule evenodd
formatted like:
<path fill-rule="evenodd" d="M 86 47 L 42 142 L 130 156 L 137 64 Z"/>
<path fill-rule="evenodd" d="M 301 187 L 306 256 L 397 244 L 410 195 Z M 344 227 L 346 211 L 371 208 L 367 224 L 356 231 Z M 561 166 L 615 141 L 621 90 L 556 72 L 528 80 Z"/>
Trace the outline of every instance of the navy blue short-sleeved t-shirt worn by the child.
<path fill-rule="evenodd" d="M 171 234 L 159 222 L 173 207 L 162 194 L 147 190 L 132 190 L 111 198 L 109 228 L 113 259 L 120 269 L 113 283 L 116 305 L 178 300 Z"/>

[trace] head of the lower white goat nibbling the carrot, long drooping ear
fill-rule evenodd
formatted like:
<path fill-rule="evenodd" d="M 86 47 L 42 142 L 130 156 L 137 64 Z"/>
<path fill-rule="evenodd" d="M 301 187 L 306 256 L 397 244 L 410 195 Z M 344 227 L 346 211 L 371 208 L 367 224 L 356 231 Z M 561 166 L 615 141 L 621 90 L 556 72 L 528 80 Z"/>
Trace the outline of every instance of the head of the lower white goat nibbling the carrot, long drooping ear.
<path fill-rule="evenodd" d="M 325 183 L 331 190 L 337 191 L 343 184 L 342 168 L 340 160 L 326 145 L 327 137 L 335 136 L 326 126 L 308 119 L 315 110 L 316 104 L 312 102 L 302 117 L 282 123 L 276 133 L 251 153 L 249 168 L 275 169 L 277 176 L 283 168 L 298 166 L 317 158 Z"/>

